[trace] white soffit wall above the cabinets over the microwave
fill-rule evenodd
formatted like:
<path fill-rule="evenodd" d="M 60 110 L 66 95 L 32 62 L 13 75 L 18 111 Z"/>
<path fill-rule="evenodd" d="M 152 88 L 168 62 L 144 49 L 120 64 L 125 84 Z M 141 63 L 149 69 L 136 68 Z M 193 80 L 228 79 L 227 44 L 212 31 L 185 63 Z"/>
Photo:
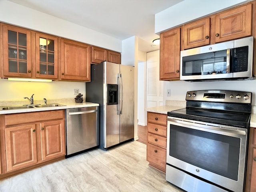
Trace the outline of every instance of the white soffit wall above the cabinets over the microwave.
<path fill-rule="evenodd" d="M 155 14 L 155 33 L 252 0 L 184 0 Z"/>

